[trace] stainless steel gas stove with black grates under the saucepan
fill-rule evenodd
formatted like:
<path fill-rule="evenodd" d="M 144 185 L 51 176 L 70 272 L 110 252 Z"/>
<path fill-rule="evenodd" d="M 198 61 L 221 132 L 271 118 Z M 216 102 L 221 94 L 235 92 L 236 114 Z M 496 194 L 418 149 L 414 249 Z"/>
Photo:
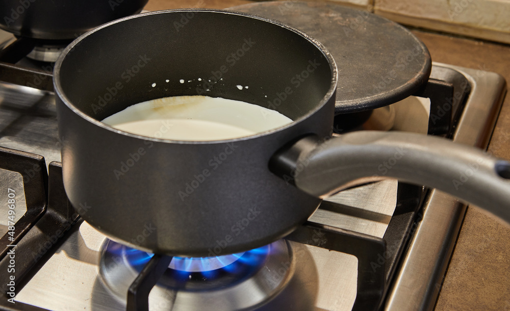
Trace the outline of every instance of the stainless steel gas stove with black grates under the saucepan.
<path fill-rule="evenodd" d="M 43 66 L 50 64 L 30 66 L 36 69 L 22 77 L 3 67 L 13 70 L 9 82 L 23 86 L 0 84 L 2 308 L 410 310 L 435 304 L 466 206 L 396 180 L 331 196 L 285 239 L 244 253 L 172 258 L 110 240 L 80 219 L 86 202 L 73 209 L 65 196 L 55 94 L 26 86 L 38 72 L 47 76 Z M 333 135 L 406 131 L 485 148 L 504 90 L 496 73 L 433 63 L 416 96 L 350 115 L 357 123 L 336 120 Z M 435 122 L 438 116 L 443 122 Z"/>

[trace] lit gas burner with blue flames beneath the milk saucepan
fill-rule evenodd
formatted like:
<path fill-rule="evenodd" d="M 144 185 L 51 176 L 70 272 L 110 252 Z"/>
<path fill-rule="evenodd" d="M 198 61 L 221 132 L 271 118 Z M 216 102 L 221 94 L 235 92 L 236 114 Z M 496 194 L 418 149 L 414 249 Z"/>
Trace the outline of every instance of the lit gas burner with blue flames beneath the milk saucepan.
<path fill-rule="evenodd" d="M 131 283 L 152 256 L 110 240 L 105 242 L 99 273 L 118 301 L 125 301 Z M 149 301 L 186 310 L 206 308 L 211 301 L 220 309 L 252 307 L 280 292 L 294 266 L 291 248 L 283 240 L 237 254 L 174 257 L 152 289 Z M 228 299 L 218 300 L 218 296 Z"/>

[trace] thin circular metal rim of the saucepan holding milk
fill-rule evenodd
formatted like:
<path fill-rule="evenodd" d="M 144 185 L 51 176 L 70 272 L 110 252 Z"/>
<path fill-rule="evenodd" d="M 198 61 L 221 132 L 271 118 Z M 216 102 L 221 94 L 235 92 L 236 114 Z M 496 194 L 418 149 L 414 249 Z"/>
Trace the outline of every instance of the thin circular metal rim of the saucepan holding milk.
<path fill-rule="evenodd" d="M 62 88 L 62 85 L 60 83 L 60 68 L 61 68 L 62 63 L 64 62 L 66 56 L 69 54 L 69 52 L 75 46 L 77 46 L 82 40 L 84 40 L 88 36 L 91 36 L 94 33 L 99 32 L 99 31 L 101 31 L 104 28 L 108 28 L 110 25 L 113 25 L 113 24 L 116 24 L 116 23 L 121 23 L 121 22 L 124 22 L 126 20 L 130 20 L 130 19 L 134 19 L 134 18 L 143 18 L 144 16 L 148 16 L 148 15 L 168 14 L 168 13 L 173 13 L 173 12 L 211 12 L 211 13 L 218 13 L 218 14 L 231 14 L 231 15 L 245 16 L 245 17 L 259 19 L 259 20 L 262 20 L 262 21 L 266 21 L 266 22 L 278 25 L 278 26 L 280 26 L 282 28 L 288 29 L 289 31 L 292 31 L 292 32 L 302 36 L 303 38 L 307 39 L 309 42 L 314 44 L 318 48 L 318 50 L 321 51 L 321 53 L 324 55 L 324 57 L 328 60 L 328 64 L 329 64 L 329 67 L 330 67 L 330 70 L 331 70 L 331 80 L 330 80 L 330 86 L 329 86 L 328 91 L 323 96 L 323 98 L 318 102 L 318 104 L 316 105 L 316 107 L 313 110 L 311 110 L 307 114 L 297 118 L 296 120 L 293 120 L 289 124 L 286 124 L 286 125 L 283 125 L 283 126 L 279 126 L 279 127 L 270 129 L 270 130 L 265 131 L 265 132 L 256 133 L 256 134 L 253 134 L 253 135 L 250 135 L 250 136 L 243 136 L 243 137 L 239 137 L 239 138 L 224 139 L 224 140 L 212 140 L 212 141 L 170 140 L 170 139 L 161 139 L 161 138 L 155 138 L 155 137 L 148 137 L 148 136 L 141 136 L 141 135 L 137 135 L 137 134 L 132 134 L 132 133 L 129 133 L 129 132 L 120 131 L 119 129 L 116 129 L 116 128 L 110 126 L 110 125 L 107 125 L 106 123 L 98 121 L 98 120 L 92 118 L 91 116 L 87 115 L 86 113 L 80 111 L 78 108 L 74 107 L 74 105 L 71 102 L 71 100 L 69 100 L 69 98 L 67 98 L 67 96 L 65 95 L 65 92 L 64 92 L 64 90 Z M 219 9 L 175 9 L 175 10 L 162 10 L 162 11 L 147 12 L 147 13 L 141 13 L 141 14 L 136 14 L 136 15 L 132 15 L 132 16 L 128 16 L 128 17 L 119 18 L 119 19 L 116 19 L 114 21 L 105 23 L 105 24 L 103 24 L 103 25 L 101 25 L 101 26 L 99 26 L 99 27 L 97 27 L 97 28 L 95 28 L 95 29 L 93 29 L 93 30 L 91 30 L 91 31 L 81 35 L 80 37 L 78 37 L 77 39 L 72 41 L 64 49 L 62 54 L 59 56 L 57 62 L 55 63 L 55 67 L 54 67 L 53 83 L 54 83 L 55 93 L 60 97 L 60 99 L 64 102 L 64 104 L 72 112 L 74 112 L 75 114 L 79 115 L 80 117 L 82 117 L 83 119 L 87 120 L 88 122 L 91 122 L 91 123 L 93 123 L 93 124 L 95 124 L 97 126 L 100 126 L 100 127 L 104 128 L 104 129 L 107 129 L 108 131 L 112 131 L 112 132 L 115 132 L 115 133 L 118 133 L 118 134 L 121 134 L 121 135 L 125 135 L 125 136 L 130 136 L 130 137 L 133 137 L 133 138 L 138 138 L 138 139 L 143 139 L 143 140 L 148 140 L 148 141 L 154 141 L 154 142 L 163 142 L 163 143 L 172 143 L 172 144 L 221 144 L 221 143 L 228 143 L 228 142 L 250 140 L 250 139 L 255 139 L 255 138 L 271 135 L 273 133 L 276 133 L 276 132 L 279 132 L 279 131 L 283 131 L 286 128 L 295 126 L 295 125 L 299 124 L 300 122 L 302 122 L 303 120 L 308 119 L 310 116 L 312 116 L 317 111 L 322 109 L 322 107 L 324 105 L 326 105 L 327 101 L 331 98 L 331 96 L 334 96 L 335 91 L 337 89 L 337 83 L 338 83 L 338 70 L 337 70 L 337 65 L 336 65 L 335 60 L 333 59 L 333 57 L 331 56 L 329 51 L 324 47 L 324 45 L 322 43 L 320 43 L 316 39 L 312 38 L 308 34 L 302 32 L 302 31 L 300 31 L 298 29 L 295 29 L 293 27 L 290 27 L 289 25 L 287 25 L 285 23 L 282 23 L 282 22 L 279 22 L 277 20 L 274 20 L 274 19 L 271 19 L 271 18 L 267 18 L 267 17 L 263 17 L 263 16 L 256 15 L 256 14 L 249 14 L 249 13 L 238 12 L 238 11 L 233 11 L 233 10 L 219 10 Z"/>

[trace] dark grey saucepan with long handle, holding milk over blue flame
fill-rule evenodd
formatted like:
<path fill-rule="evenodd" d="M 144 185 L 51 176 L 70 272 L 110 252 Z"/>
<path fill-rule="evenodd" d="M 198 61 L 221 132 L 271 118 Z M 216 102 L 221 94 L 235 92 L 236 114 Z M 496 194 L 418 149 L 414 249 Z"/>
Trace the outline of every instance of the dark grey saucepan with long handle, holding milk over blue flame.
<path fill-rule="evenodd" d="M 421 135 L 329 139 L 335 61 L 319 42 L 273 20 L 217 10 L 127 17 L 69 45 L 54 83 L 72 205 L 140 249 L 211 256 L 259 247 L 307 220 L 321 196 L 382 177 L 439 188 L 510 220 L 507 162 Z M 269 107 L 294 122 L 191 142 L 100 122 L 137 102 L 197 94 Z"/>

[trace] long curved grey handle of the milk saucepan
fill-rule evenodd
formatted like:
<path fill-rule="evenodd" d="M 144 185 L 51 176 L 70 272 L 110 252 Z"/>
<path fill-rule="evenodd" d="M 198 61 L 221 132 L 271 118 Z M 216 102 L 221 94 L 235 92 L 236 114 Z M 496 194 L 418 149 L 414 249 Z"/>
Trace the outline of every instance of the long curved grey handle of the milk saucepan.
<path fill-rule="evenodd" d="M 437 188 L 510 223 L 510 163 L 443 138 L 376 131 L 324 142 L 307 136 L 276 152 L 269 168 L 319 197 L 396 178 Z"/>

